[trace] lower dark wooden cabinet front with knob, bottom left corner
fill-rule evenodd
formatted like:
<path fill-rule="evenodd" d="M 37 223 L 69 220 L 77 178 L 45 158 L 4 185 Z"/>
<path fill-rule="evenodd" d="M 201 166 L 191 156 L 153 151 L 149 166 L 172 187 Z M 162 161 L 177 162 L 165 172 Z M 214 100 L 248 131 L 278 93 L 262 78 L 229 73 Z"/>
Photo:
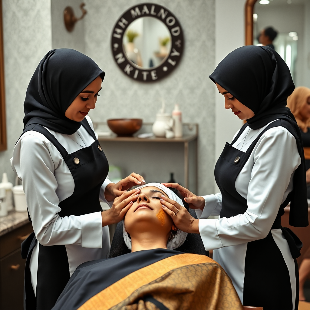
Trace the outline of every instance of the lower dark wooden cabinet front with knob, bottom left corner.
<path fill-rule="evenodd" d="M 24 309 L 24 270 L 26 259 L 20 250 L 0 259 L 0 309 Z"/>

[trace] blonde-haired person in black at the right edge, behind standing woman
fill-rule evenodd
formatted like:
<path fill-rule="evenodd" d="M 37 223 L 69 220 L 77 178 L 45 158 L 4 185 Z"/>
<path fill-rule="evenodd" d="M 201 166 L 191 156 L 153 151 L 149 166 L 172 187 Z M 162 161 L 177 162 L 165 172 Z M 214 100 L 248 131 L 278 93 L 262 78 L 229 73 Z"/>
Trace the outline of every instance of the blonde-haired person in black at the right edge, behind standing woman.
<path fill-rule="evenodd" d="M 307 197 L 310 199 L 310 89 L 296 87 L 287 98 L 287 107 L 293 113 L 301 131 L 306 163 Z"/>

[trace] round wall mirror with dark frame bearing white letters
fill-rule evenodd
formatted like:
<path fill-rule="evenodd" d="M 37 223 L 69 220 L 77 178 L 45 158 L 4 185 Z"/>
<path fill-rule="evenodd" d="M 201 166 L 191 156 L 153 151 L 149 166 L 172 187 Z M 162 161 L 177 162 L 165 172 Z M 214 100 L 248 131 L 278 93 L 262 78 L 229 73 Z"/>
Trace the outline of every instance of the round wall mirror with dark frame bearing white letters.
<path fill-rule="evenodd" d="M 172 72 L 181 59 L 183 45 L 177 18 L 153 3 L 128 9 L 115 24 L 111 40 L 118 67 L 143 82 L 157 81 Z"/>

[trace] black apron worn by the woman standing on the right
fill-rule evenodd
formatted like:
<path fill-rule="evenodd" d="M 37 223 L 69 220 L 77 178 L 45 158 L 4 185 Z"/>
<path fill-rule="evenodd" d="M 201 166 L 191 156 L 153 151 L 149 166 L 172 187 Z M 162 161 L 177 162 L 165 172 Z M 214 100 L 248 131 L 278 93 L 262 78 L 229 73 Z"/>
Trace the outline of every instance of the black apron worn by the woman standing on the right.
<path fill-rule="evenodd" d="M 258 135 L 246 152 L 232 147 L 232 144 L 237 141 L 247 127 L 247 124 L 241 127 L 231 144 L 226 143 L 215 165 L 214 172 L 216 184 L 222 193 L 220 218 L 230 218 L 246 212 L 248 208 L 247 200 L 235 188 L 237 176 L 248 161 L 250 154 L 263 133 L 272 127 L 281 126 L 281 122 L 283 124 L 286 121 L 277 120 L 269 124 Z M 279 151 L 281 152 L 281 150 Z M 271 229 L 281 228 L 295 261 L 297 284 L 295 309 L 297 310 L 299 280 L 296 258 L 300 256 L 299 250 L 302 247 L 302 243 L 289 228 L 281 226 L 281 216 L 284 214 L 284 207 L 287 206 L 289 201 L 290 194 L 280 206 Z M 266 238 L 247 243 L 243 288 L 243 304 L 245 306 L 263 307 L 264 310 L 292 310 L 293 308 L 289 271 L 281 251 L 272 237 L 271 231 Z"/>

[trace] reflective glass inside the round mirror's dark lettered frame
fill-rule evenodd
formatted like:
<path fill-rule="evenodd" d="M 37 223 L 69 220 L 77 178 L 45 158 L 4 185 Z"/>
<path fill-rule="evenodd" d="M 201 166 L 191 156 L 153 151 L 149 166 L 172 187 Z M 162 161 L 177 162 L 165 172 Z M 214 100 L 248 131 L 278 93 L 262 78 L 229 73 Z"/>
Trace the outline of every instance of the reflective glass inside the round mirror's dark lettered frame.
<path fill-rule="evenodd" d="M 170 31 L 161 20 L 140 17 L 126 29 L 123 47 L 128 60 L 135 66 L 143 69 L 156 68 L 170 54 Z"/>

